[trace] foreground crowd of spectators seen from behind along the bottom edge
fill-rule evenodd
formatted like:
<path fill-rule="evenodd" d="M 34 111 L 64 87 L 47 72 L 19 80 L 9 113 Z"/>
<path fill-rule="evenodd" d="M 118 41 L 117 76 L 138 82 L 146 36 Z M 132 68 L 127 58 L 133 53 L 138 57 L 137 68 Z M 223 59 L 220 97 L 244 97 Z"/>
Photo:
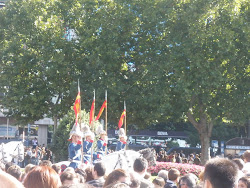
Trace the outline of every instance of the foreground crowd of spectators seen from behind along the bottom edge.
<path fill-rule="evenodd" d="M 131 170 L 115 169 L 106 174 L 102 161 L 85 168 L 63 169 L 49 160 L 25 168 L 9 162 L 0 164 L 1 188 L 250 188 L 250 150 L 243 159 L 213 158 L 197 177 L 192 173 L 181 175 L 172 168 L 161 169 L 156 177 L 148 172 L 148 162 L 139 157 Z"/>

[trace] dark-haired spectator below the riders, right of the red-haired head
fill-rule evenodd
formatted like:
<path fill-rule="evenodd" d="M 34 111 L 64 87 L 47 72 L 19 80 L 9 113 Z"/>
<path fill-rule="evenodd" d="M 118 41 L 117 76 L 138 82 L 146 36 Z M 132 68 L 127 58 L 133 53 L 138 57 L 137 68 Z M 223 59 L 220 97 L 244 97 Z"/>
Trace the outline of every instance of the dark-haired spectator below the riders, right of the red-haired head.
<path fill-rule="evenodd" d="M 106 167 L 104 166 L 102 162 L 96 163 L 92 170 L 94 180 L 89 181 L 87 183 L 94 187 L 98 187 L 98 188 L 103 187 L 104 182 L 105 182 L 103 178 L 103 176 L 105 175 L 105 171 L 106 171 Z"/>

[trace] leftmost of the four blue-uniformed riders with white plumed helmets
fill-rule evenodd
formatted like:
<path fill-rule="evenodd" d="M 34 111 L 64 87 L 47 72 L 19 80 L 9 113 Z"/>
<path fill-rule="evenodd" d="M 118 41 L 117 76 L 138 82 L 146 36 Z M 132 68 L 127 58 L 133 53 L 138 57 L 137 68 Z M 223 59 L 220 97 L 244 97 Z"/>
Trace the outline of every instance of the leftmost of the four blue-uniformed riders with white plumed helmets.
<path fill-rule="evenodd" d="M 72 130 L 70 131 L 71 144 L 68 146 L 69 160 L 70 165 L 76 169 L 78 165 L 81 163 L 81 147 L 82 147 L 82 132 L 78 125 L 74 125 Z"/>

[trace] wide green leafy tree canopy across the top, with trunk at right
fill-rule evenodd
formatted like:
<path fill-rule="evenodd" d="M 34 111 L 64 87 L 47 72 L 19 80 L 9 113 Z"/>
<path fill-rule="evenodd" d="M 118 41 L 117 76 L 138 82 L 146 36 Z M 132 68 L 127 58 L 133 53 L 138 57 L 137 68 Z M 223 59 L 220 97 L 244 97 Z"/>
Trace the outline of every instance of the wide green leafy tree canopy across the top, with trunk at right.
<path fill-rule="evenodd" d="M 190 121 L 205 162 L 215 122 L 249 118 L 248 17 L 243 0 L 11 1 L 0 16 L 4 103 L 35 119 L 60 96 L 63 113 L 80 78 L 85 109 L 108 89 L 109 121 L 123 100 L 128 123 Z"/>

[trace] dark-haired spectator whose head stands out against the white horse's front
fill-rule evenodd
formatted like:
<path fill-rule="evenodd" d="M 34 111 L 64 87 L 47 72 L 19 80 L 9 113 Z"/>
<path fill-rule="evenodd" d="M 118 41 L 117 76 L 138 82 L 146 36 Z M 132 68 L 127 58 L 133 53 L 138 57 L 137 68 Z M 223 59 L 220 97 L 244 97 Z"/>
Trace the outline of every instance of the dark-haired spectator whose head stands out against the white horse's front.
<path fill-rule="evenodd" d="M 153 184 L 144 179 L 144 176 L 148 169 L 148 161 L 144 158 L 137 158 L 133 165 L 134 171 L 140 175 L 140 188 L 154 187 Z"/>

